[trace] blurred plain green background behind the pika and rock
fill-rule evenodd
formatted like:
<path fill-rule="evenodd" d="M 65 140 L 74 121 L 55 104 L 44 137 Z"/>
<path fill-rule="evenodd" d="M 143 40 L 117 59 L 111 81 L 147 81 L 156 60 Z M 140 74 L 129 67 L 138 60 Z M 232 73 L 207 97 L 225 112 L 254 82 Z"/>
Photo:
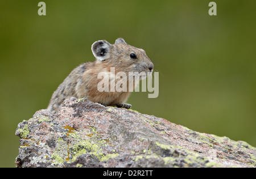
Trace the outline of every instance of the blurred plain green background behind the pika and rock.
<path fill-rule="evenodd" d="M 94 41 L 123 37 L 159 71 L 159 96 L 134 92 L 134 110 L 256 146 L 256 1 L 0 2 L 0 167 L 15 167 L 19 122 L 46 109 Z"/>

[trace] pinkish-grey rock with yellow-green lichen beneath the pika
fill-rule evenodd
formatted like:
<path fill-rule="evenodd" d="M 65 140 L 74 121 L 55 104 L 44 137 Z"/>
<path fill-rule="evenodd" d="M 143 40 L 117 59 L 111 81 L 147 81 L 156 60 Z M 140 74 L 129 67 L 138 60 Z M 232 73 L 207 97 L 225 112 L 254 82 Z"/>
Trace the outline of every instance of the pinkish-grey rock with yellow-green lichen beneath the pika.
<path fill-rule="evenodd" d="M 256 148 L 72 97 L 16 129 L 16 167 L 255 167 Z"/>

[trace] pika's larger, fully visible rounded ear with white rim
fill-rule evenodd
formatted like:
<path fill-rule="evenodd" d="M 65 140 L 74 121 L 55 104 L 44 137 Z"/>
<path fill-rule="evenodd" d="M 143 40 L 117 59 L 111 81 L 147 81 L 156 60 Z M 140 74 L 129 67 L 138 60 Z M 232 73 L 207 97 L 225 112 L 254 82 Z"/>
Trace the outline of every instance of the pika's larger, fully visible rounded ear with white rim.
<path fill-rule="evenodd" d="M 99 40 L 92 44 L 92 52 L 94 57 L 96 57 L 100 61 L 104 61 L 108 56 L 109 50 L 111 48 L 111 44 L 109 44 L 106 40 Z"/>

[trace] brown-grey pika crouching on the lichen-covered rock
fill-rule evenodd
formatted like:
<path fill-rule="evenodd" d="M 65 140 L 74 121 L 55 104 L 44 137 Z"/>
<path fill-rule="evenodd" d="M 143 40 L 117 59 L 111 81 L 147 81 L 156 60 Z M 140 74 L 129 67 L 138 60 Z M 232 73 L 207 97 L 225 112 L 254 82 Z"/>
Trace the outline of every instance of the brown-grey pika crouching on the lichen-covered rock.
<path fill-rule="evenodd" d="M 150 58 L 147 57 L 146 52 L 143 49 L 127 44 L 125 40 L 119 38 L 115 40 L 115 44 L 110 44 L 106 40 L 94 42 L 92 44 L 92 53 L 96 60 L 77 66 L 65 78 L 63 83 L 53 92 L 47 110 L 57 112 L 59 106 L 69 97 L 85 98 L 105 106 L 131 108 L 130 104 L 125 103 L 131 91 L 99 91 L 98 84 L 102 79 L 98 78 L 98 74 L 104 72 L 110 77 L 109 81 L 112 78 L 111 75 L 116 75 L 119 72 L 127 75 L 128 78 L 126 80 L 130 79 L 129 72 L 150 74 L 154 69 L 154 65 Z M 113 67 L 114 74 L 111 70 Z M 131 86 L 134 90 L 139 80 L 146 78 L 146 76 L 139 76 L 140 78 L 135 78 L 132 82 L 127 80 L 127 86 Z M 123 79 L 115 79 L 115 84 L 121 80 Z M 111 85 L 109 83 L 109 87 Z"/>

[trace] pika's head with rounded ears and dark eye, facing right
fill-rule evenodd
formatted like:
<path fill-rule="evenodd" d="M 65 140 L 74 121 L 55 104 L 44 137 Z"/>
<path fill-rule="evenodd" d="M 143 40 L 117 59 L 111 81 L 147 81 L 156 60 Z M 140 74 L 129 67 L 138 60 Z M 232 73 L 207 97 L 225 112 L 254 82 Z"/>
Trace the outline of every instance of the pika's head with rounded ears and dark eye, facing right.
<path fill-rule="evenodd" d="M 148 74 L 154 69 L 143 49 L 127 44 L 122 38 L 115 40 L 115 44 L 106 40 L 96 41 L 92 45 L 92 52 L 98 62 L 115 67 L 117 71 Z"/>

